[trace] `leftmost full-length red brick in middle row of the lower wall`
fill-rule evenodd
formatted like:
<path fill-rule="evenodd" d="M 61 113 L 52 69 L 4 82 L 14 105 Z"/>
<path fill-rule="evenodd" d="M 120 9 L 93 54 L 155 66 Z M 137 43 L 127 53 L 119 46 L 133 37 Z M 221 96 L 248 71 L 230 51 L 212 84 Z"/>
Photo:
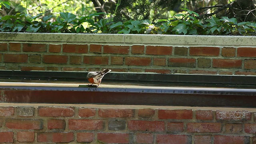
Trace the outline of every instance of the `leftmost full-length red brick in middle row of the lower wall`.
<path fill-rule="evenodd" d="M 10 129 L 22 129 L 22 130 L 42 130 L 42 120 L 19 120 L 19 119 L 8 119 L 6 120 L 6 128 Z"/>

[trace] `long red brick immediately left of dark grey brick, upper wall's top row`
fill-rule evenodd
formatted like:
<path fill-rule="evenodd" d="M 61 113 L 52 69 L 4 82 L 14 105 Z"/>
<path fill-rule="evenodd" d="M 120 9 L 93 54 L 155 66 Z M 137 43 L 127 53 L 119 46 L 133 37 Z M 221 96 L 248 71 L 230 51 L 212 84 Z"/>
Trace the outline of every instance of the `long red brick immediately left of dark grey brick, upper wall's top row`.
<path fill-rule="evenodd" d="M 146 46 L 146 54 L 149 55 L 171 55 L 172 46 Z"/>

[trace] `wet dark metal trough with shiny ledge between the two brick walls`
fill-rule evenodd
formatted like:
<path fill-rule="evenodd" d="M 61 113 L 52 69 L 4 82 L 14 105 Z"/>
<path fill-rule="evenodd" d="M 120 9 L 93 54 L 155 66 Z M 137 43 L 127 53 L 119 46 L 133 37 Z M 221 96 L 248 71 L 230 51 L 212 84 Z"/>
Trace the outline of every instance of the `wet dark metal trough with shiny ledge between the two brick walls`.
<path fill-rule="evenodd" d="M 256 108 L 255 76 L 86 72 L 0 72 L 0 102 Z"/>

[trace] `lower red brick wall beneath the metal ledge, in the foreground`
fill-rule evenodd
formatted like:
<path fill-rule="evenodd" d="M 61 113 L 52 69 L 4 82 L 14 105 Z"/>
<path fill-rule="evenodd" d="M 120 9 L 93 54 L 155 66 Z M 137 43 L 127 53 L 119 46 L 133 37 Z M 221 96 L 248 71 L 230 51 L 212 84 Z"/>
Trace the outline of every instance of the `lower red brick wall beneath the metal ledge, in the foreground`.
<path fill-rule="evenodd" d="M 256 144 L 256 112 L 0 107 L 0 143 Z"/>

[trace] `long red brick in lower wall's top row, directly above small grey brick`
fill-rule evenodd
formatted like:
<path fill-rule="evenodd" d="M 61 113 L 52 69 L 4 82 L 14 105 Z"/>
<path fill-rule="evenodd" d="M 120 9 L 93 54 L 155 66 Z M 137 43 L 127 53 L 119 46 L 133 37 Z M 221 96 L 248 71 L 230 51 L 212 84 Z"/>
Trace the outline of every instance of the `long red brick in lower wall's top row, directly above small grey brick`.
<path fill-rule="evenodd" d="M 99 109 L 99 117 L 102 118 L 132 118 L 134 117 L 133 109 Z"/>

